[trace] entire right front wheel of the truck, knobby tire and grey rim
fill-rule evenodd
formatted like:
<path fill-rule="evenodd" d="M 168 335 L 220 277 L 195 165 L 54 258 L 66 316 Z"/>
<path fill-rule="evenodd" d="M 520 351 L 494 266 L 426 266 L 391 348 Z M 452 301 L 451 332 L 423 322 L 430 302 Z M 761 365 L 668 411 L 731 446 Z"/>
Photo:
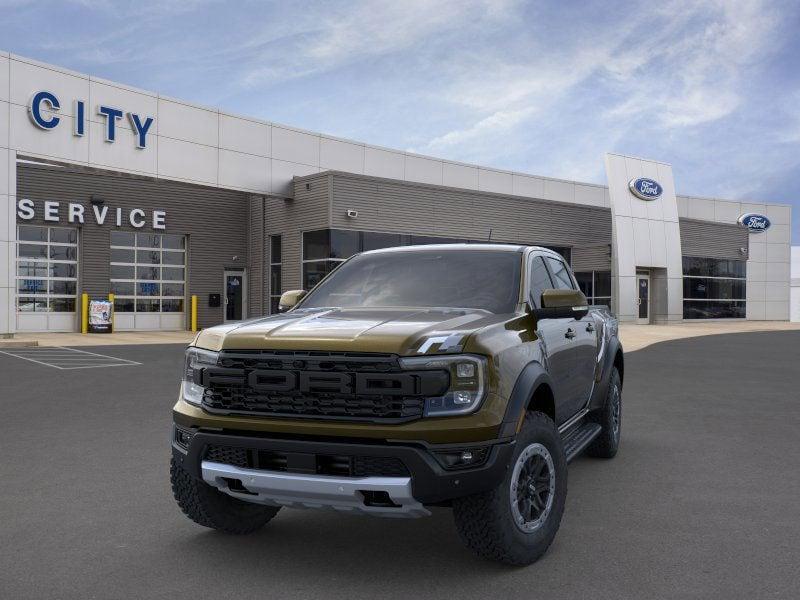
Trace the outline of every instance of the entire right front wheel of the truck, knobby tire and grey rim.
<path fill-rule="evenodd" d="M 556 536 L 567 498 L 567 459 L 553 421 L 529 413 L 511 464 L 495 489 L 453 501 L 461 539 L 480 556 L 510 565 L 539 559 Z"/>

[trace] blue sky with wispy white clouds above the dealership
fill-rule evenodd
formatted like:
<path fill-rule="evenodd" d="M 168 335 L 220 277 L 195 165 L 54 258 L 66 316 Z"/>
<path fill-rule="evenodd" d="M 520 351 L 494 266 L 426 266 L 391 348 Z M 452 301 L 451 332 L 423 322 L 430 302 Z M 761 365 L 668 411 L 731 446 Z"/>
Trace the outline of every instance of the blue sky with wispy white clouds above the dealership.
<path fill-rule="evenodd" d="M 441 158 L 793 204 L 800 2 L 0 0 L 0 49 L 228 112 Z"/>

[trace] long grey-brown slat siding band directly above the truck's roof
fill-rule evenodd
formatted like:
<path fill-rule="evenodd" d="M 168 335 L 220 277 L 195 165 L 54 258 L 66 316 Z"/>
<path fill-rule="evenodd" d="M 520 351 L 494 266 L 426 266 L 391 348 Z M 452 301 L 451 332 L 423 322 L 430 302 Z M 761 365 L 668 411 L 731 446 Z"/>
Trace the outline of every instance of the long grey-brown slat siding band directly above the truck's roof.
<path fill-rule="evenodd" d="M 611 243 L 611 211 L 442 186 L 332 173 L 334 228 L 560 246 Z M 346 216 L 358 211 L 357 219 Z"/>

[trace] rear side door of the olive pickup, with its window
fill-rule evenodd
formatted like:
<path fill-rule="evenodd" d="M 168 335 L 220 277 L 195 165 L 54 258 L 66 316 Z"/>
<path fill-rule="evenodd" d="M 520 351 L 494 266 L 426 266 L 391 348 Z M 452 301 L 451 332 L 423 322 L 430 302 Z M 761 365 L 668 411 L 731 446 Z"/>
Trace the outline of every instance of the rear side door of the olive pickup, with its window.
<path fill-rule="evenodd" d="M 563 261 L 545 257 L 556 289 L 578 289 L 572 272 Z M 570 342 L 569 394 L 564 403 L 564 419 L 581 410 L 589 399 L 594 378 L 597 353 L 597 333 L 594 318 L 586 315 L 582 319 L 567 319 L 567 338 Z"/>

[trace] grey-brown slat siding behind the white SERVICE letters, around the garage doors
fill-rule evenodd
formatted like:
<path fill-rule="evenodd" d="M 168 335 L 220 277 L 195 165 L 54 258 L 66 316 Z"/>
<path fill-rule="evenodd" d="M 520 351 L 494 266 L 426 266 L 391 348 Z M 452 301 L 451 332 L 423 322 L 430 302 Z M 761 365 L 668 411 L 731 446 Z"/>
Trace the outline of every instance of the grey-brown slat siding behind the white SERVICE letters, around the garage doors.
<path fill-rule="evenodd" d="M 129 175 L 83 172 L 78 168 L 73 170 L 26 164 L 17 166 L 17 194 L 19 198 L 30 198 L 36 202 L 36 217 L 26 223 L 48 224 L 42 219 L 43 200 L 61 202 L 61 225 L 71 225 L 66 221 L 65 203 L 79 202 L 84 206 L 85 224 L 79 226 L 79 291 L 92 296 L 108 294 L 110 232 L 152 232 L 151 211 L 165 210 L 166 230 L 157 230 L 155 233 L 189 236 L 186 294 L 187 298 L 191 294 L 198 296 L 199 326 L 210 327 L 222 322 L 222 307 L 210 308 L 208 295 L 224 293 L 223 271 L 226 267 L 242 268 L 247 265 L 246 194 Z M 109 207 L 106 224 L 102 226 L 94 222 L 89 202 L 91 196 L 104 199 Z M 117 228 L 117 207 L 123 209 L 123 219 L 130 209 L 143 209 L 146 225 L 142 229 L 134 229 L 127 221 L 123 221 L 128 224 Z M 236 260 L 233 260 L 234 256 Z"/>

